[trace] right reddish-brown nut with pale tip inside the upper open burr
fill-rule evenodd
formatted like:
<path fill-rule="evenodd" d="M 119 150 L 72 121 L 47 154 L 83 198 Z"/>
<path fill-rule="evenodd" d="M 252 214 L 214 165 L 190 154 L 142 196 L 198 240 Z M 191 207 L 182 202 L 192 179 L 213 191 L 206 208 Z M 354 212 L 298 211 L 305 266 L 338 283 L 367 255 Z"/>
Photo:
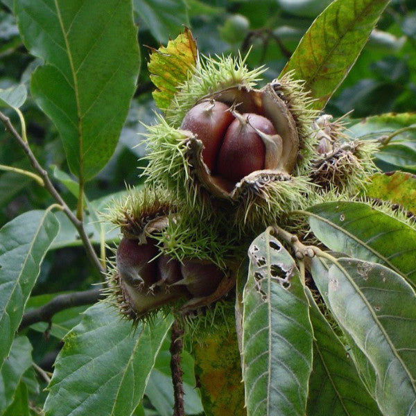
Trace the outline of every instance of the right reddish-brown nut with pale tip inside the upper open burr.
<path fill-rule="evenodd" d="M 218 175 L 235 183 L 264 168 L 266 146 L 257 130 L 276 134 L 272 122 L 259 114 L 245 113 L 234 119 L 218 153 Z"/>

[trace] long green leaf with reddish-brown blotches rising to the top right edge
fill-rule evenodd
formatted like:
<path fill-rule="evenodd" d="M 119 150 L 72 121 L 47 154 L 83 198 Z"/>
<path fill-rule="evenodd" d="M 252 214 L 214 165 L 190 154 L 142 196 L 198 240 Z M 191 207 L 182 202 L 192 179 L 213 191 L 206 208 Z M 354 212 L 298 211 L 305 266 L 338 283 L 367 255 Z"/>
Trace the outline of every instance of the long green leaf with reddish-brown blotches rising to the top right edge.
<path fill-rule="evenodd" d="M 388 0 L 336 0 L 315 19 L 282 74 L 295 71 L 321 110 L 358 58 Z"/>

